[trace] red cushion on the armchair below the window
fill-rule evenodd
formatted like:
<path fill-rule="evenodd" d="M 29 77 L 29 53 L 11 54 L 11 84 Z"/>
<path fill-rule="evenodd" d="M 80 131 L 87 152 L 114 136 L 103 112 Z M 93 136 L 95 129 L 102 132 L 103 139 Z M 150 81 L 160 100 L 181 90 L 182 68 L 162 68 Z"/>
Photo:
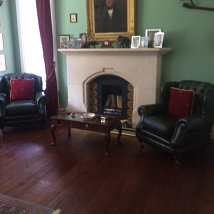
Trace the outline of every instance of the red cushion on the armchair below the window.
<path fill-rule="evenodd" d="M 33 100 L 34 79 L 11 79 L 10 100 Z"/>

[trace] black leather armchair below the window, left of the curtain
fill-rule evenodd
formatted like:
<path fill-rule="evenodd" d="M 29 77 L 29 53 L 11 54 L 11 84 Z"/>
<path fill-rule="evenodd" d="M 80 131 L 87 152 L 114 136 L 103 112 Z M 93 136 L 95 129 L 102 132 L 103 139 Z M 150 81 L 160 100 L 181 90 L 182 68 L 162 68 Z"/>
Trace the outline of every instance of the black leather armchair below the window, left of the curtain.
<path fill-rule="evenodd" d="M 34 100 L 10 101 L 11 79 L 34 79 Z M 0 126 L 18 126 L 46 122 L 48 98 L 42 90 L 42 78 L 30 73 L 8 73 L 0 77 Z"/>

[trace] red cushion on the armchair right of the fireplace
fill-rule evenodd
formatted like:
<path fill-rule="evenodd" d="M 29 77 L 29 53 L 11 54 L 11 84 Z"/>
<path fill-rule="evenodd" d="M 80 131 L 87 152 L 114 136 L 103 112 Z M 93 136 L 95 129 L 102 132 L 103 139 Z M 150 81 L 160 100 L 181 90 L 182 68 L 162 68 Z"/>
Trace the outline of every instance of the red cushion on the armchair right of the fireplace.
<path fill-rule="evenodd" d="M 183 90 L 179 88 L 170 88 L 170 100 L 168 105 L 168 114 L 177 117 L 187 117 L 192 114 L 194 101 L 193 90 Z"/>

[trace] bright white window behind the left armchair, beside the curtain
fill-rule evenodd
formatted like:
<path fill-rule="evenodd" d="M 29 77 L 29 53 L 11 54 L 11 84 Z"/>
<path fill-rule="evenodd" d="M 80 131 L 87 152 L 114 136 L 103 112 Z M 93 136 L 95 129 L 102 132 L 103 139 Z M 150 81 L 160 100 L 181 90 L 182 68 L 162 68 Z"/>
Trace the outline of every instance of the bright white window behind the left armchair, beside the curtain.
<path fill-rule="evenodd" d="M 42 77 L 46 88 L 45 64 L 35 0 L 16 0 L 22 72 Z"/>

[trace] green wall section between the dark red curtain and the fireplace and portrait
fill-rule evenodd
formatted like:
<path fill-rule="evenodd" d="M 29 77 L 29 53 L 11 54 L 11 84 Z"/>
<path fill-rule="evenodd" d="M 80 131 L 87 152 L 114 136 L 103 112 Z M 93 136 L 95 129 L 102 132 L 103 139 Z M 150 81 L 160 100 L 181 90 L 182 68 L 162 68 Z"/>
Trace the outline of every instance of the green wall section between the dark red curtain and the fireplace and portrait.
<path fill-rule="evenodd" d="M 86 4 L 85 0 L 55 0 L 56 34 L 68 34 L 79 37 L 79 33 L 86 32 Z M 70 14 L 77 13 L 77 23 L 70 23 Z M 58 46 L 58 45 L 57 45 Z M 67 73 L 65 56 L 58 53 L 59 101 L 61 106 L 67 106 Z"/>

